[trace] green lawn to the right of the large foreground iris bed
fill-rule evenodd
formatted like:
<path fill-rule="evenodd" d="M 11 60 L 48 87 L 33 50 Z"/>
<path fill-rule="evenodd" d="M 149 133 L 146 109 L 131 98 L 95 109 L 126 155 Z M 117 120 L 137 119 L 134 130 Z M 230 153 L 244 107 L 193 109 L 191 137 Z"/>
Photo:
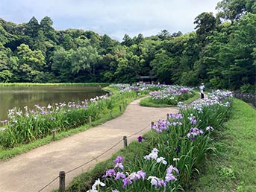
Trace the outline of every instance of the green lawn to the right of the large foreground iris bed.
<path fill-rule="evenodd" d="M 234 100 L 231 118 L 217 143 L 218 158 L 207 161 L 191 191 L 256 191 L 256 111 Z"/>

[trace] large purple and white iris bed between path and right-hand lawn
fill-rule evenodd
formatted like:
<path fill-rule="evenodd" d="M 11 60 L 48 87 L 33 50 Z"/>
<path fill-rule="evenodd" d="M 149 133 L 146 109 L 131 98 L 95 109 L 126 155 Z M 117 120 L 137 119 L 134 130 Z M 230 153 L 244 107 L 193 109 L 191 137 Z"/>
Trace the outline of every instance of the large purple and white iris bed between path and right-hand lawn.
<path fill-rule="evenodd" d="M 160 120 L 152 131 L 131 144 L 139 150 L 117 156 L 104 173 L 102 185 L 89 191 L 180 191 L 189 188 L 208 155 L 216 153 L 214 137 L 221 132 L 231 109 L 231 92 L 216 91 L 207 100 L 181 105 L 180 113 Z M 128 151 L 130 151 L 128 150 Z M 126 156 L 126 155 L 125 155 Z M 105 186 L 103 186 L 105 185 Z"/>

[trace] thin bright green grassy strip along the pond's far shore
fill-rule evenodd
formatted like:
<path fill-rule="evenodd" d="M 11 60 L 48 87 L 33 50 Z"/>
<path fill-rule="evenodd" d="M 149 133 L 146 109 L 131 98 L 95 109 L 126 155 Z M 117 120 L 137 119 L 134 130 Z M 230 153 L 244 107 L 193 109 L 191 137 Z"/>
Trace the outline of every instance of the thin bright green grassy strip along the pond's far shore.
<path fill-rule="evenodd" d="M 109 86 L 109 83 L 0 83 L 0 86 Z"/>

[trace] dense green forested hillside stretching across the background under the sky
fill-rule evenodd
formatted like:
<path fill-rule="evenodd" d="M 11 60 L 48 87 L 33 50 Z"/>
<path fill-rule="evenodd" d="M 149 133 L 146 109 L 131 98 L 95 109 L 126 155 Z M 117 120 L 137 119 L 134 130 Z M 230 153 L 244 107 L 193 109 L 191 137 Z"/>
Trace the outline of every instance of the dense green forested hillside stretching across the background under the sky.
<path fill-rule="evenodd" d="M 56 31 L 48 16 L 19 25 L 0 19 L 0 82 L 131 83 L 152 75 L 161 83 L 253 90 L 256 1 L 222 0 L 216 8 L 216 16 L 196 17 L 194 32 L 125 34 L 122 42 L 93 31 Z"/>

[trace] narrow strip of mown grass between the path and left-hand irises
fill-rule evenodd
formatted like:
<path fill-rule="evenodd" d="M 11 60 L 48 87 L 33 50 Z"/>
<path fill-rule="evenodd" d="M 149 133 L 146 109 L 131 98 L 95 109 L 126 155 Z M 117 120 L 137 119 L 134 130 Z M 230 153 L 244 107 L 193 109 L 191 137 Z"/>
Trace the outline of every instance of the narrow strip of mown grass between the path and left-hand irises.
<path fill-rule="evenodd" d="M 61 138 L 65 138 L 69 135 L 74 135 L 77 132 L 82 132 L 86 129 L 90 129 L 90 127 L 97 126 L 102 124 L 112 118 L 116 118 L 124 112 L 128 103 L 135 100 L 137 97 L 141 97 L 143 95 L 137 96 L 136 93 L 131 93 L 128 95 L 122 94 L 119 95 L 119 90 L 116 88 L 107 88 L 108 91 L 113 92 L 113 95 L 109 98 L 112 100 L 111 108 L 104 107 L 102 110 L 98 110 L 96 118 L 92 118 L 92 124 L 90 125 L 87 118 L 84 118 L 84 123 L 77 128 L 72 129 L 64 129 L 63 131 L 59 131 L 56 134 L 55 140 L 59 140 Z M 122 112 L 119 110 L 119 106 L 122 106 Z M 110 110 L 112 111 L 112 115 L 110 115 Z M 0 160 L 10 159 L 13 156 L 19 155 L 21 153 L 25 153 L 28 150 L 34 149 L 36 147 L 40 147 L 44 144 L 49 144 L 52 141 L 52 135 L 46 135 L 44 138 L 37 139 L 36 141 L 31 141 L 28 144 L 17 144 L 15 147 L 0 147 Z"/>

